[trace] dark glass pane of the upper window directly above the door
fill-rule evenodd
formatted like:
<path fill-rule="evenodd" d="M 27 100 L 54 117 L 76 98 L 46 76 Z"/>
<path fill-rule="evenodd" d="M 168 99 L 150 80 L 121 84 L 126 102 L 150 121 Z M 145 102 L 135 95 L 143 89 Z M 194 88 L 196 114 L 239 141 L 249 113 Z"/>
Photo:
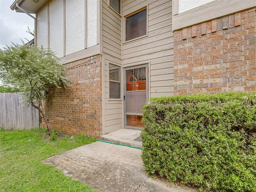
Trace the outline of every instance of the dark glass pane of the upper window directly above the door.
<path fill-rule="evenodd" d="M 147 34 L 147 10 L 125 18 L 126 41 L 132 40 Z"/>

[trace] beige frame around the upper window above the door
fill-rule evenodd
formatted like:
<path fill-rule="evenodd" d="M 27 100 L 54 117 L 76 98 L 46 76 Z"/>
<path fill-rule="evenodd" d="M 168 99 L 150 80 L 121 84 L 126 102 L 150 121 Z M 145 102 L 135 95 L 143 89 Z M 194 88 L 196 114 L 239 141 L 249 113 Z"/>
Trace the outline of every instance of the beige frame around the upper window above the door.
<path fill-rule="evenodd" d="M 134 39 L 126 40 L 126 18 L 128 18 L 130 16 L 133 16 L 133 15 L 135 15 L 139 12 L 142 12 L 144 10 L 146 10 L 146 34 L 143 35 L 143 36 L 136 37 Z M 136 11 L 130 13 L 130 14 L 125 15 L 123 17 L 123 23 L 124 23 L 124 25 L 123 25 L 123 44 L 147 37 L 148 36 L 148 5 L 140 8 L 140 9 L 138 9 L 138 10 L 136 10 Z"/>

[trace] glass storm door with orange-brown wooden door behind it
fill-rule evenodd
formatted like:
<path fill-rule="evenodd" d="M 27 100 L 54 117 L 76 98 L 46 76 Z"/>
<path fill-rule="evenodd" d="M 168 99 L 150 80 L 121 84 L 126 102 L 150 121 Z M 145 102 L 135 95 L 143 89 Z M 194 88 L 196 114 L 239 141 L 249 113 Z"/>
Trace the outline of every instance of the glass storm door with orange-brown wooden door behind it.
<path fill-rule="evenodd" d="M 148 100 L 147 66 L 124 69 L 124 75 L 124 125 L 125 128 L 141 129 L 142 106 Z"/>

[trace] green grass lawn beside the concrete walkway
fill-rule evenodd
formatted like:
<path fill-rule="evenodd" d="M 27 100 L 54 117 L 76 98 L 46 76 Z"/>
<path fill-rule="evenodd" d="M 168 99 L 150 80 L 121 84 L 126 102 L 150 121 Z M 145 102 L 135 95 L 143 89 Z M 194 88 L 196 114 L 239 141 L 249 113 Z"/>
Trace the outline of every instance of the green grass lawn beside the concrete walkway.
<path fill-rule="evenodd" d="M 0 192 L 96 192 L 41 162 L 93 141 L 84 136 L 49 141 L 39 129 L 0 130 Z"/>

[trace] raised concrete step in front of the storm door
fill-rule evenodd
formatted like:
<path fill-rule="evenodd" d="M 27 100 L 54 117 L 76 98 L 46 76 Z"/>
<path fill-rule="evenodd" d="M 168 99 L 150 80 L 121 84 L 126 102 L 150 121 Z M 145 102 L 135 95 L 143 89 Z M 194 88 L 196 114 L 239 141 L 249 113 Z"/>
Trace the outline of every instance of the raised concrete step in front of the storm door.
<path fill-rule="evenodd" d="M 128 145 L 132 147 L 142 148 L 142 142 L 134 141 L 134 139 L 140 136 L 140 130 L 134 129 L 119 129 L 100 136 L 103 141 Z"/>

